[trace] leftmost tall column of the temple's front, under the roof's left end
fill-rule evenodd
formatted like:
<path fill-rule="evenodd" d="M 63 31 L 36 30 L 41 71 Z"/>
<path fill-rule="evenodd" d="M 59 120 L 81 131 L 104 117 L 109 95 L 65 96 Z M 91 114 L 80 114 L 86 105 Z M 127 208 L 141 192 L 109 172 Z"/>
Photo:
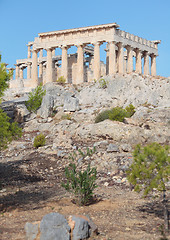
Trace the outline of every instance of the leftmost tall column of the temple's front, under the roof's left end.
<path fill-rule="evenodd" d="M 32 72 L 31 72 L 31 87 L 38 86 L 38 58 L 37 58 L 37 49 L 33 49 L 32 51 Z"/>

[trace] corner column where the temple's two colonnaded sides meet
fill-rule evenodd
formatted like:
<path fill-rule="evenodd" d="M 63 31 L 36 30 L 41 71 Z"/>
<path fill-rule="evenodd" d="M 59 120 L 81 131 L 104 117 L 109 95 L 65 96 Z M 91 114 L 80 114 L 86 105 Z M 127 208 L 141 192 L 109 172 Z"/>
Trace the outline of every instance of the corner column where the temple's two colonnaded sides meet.
<path fill-rule="evenodd" d="M 116 73 L 116 45 L 109 43 L 109 75 Z"/>

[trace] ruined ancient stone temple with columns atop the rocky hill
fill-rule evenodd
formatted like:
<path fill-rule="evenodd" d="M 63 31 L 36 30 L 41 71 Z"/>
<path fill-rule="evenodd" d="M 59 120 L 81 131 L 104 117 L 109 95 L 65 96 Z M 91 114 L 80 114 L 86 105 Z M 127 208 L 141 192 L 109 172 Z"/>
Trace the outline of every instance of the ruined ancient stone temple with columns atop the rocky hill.
<path fill-rule="evenodd" d="M 100 60 L 103 43 L 106 43 L 105 62 Z M 34 42 L 27 45 L 28 58 L 17 60 L 15 80 L 11 80 L 10 87 L 33 88 L 41 82 L 44 85 L 56 81 L 60 76 L 73 84 L 115 73 L 156 76 L 159 43 L 160 40 L 148 41 L 122 31 L 116 23 L 39 33 Z M 77 53 L 68 54 L 72 46 L 77 47 Z M 62 49 L 61 55 L 55 54 L 57 48 Z"/>

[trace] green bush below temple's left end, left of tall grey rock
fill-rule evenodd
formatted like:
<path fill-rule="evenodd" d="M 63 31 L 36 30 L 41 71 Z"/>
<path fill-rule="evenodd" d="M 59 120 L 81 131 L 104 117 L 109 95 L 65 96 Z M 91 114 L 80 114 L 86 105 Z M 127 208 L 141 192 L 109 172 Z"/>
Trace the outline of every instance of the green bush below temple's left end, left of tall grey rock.
<path fill-rule="evenodd" d="M 38 108 L 41 106 L 43 96 L 46 91 L 43 90 L 42 85 L 36 87 L 33 92 L 29 93 L 29 99 L 26 102 L 26 107 L 30 112 L 36 113 Z"/>

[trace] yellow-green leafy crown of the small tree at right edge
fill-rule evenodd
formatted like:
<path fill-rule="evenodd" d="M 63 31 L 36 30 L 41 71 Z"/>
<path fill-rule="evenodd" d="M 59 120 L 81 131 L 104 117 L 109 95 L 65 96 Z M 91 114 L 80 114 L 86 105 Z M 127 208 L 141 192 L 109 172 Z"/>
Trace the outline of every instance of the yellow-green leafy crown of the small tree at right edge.
<path fill-rule="evenodd" d="M 127 178 L 135 186 L 135 191 L 144 190 L 146 196 L 153 189 L 165 191 L 170 175 L 169 146 L 152 143 L 145 147 L 137 145 L 134 149 L 134 160 Z"/>

